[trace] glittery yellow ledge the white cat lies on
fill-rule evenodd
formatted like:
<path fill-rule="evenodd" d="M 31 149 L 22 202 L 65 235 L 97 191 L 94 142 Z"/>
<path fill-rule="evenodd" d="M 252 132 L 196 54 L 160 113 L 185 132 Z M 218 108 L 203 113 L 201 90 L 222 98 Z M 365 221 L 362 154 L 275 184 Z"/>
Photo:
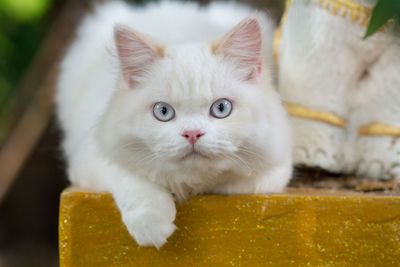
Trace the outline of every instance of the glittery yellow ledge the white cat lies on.
<path fill-rule="evenodd" d="M 60 266 L 399 266 L 400 197 L 198 196 L 160 250 L 138 247 L 109 194 L 61 195 Z"/>

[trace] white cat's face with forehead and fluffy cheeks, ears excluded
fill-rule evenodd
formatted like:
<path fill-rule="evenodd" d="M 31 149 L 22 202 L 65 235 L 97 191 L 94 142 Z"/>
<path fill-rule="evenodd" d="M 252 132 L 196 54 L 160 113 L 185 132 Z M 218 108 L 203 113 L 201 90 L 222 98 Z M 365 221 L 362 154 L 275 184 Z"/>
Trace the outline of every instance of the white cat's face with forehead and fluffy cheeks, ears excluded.
<path fill-rule="evenodd" d="M 140 77 L 122 78 L 100 128 L 107 153 L 133 169 L 248 172 L 249 159 L 265 156 L 260 135 L 271 127 L 268 102 L 278 101 L 260 88 L 262 66 L 240 66 L 210 45 L 162 54 Z"/>

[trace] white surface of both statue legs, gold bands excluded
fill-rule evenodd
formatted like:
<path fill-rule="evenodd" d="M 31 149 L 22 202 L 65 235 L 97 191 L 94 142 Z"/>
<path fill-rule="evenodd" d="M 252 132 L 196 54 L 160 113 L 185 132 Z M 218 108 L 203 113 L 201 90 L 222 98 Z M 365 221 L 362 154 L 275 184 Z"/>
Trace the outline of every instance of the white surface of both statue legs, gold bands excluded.
<path fill-rule="evenodd" d="M 293 1 L 289 9 L 279 90 L 288 102 L 339 115 L 347 127 L 292 117 L 294 161 L 364 177 L 400 177 L 400 141 L 359 135 L 362 125 L 376 121 L 400 126 L 400 38 L 387 31 L 363 40 L 365 27 L 314 2 Z"/>

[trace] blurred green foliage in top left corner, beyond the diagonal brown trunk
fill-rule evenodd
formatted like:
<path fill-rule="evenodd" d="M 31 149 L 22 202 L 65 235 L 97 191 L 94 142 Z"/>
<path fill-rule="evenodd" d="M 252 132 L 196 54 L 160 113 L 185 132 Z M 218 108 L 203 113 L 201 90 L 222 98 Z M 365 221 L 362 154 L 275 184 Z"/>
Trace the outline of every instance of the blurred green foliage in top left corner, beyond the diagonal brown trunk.
<path fill-rule="evenodd" d="M 0 144 L 19 80 L 50 23 L 51 0 L 0 0 Z"/>

